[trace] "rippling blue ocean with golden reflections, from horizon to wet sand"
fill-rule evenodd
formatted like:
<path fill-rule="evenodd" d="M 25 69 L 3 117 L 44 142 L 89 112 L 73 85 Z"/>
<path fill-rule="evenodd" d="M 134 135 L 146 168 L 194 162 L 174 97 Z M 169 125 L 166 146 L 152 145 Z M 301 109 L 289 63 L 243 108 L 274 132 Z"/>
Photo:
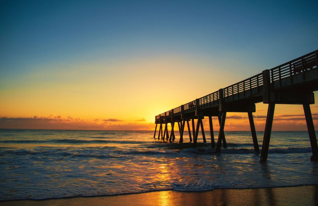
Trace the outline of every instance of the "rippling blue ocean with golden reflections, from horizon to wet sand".
<path fill-rule="evenodd" d="M 264 163 L 250 131 L 225 131 L 221 154 L 184 133 L 179 144 L 178 132 L 169 143 L 153 131 L 0 129 L 0 200 L 318 184 L 307 131 L 273 131 Z"/>

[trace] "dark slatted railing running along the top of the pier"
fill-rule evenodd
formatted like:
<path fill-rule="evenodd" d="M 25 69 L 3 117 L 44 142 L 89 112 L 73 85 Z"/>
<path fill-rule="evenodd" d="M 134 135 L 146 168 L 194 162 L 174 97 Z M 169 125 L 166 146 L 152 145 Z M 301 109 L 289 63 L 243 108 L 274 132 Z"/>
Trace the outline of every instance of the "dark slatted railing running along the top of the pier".
<path fill-rule="evenodd" d="M 313 51 L 304 56 L 296 58 L 285 64 L 276 66 L 270 69 L 271 83 L 279 82 L 282 86 L 282 79 L 294 76 L 296 74 L 305 73 L 306 71 L 316 69 L 318 65 L 317 52 Z M 231 86 L 227 86 L 223 89 L 223 98 L 225 101 L 244 99 L 256 94 L 263 93 L 263 73 L 256 74 L 248 79 L 235 83 Z M 205 109 L 220 104 L 219 91 L 208 94 L 199 98 L 199 109 Z M 182 106 L 178 106 L 173 109 L 173 115 L 181 115 Z M 190 101 L 183 105 L 183 112 L 190 113 L 196 109 L 196 100 Z M 171 117 L 171 110 L 156 115 L 156 120 L 164 120 L 167 117 Z"/>

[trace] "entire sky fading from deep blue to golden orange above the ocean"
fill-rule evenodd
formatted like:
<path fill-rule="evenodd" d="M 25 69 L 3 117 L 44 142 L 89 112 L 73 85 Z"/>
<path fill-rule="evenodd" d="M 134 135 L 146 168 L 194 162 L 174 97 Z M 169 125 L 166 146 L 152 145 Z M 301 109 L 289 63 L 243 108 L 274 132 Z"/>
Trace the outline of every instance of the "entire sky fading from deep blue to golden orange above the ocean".
<path fill-rule="evenodd" d="M 0 128 L 154 130 L 159 113 L 317 50 L 316 8 L 0 0 Z M 267 105 L 256 110 L 261 131 Z M 273 130 L 306 130 L 301 105 L 274 115 Z M 225 130 L 249 129 L 247 114 L 228 113 Z"/>

